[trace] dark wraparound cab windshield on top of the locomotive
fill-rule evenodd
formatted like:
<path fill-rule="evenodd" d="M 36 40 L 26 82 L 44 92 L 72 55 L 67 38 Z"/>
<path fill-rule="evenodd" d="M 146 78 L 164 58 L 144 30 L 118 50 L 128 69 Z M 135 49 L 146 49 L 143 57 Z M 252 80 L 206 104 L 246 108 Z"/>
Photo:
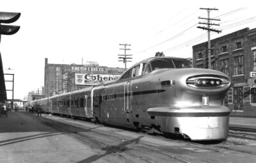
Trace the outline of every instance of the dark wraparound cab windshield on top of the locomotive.
<path fill-rule="evenodd" d="M 145 75 L 161 68 L 192 68 L 192 65 L 189 61 L 182 59 L 156 59 L 147 65 Z"/>

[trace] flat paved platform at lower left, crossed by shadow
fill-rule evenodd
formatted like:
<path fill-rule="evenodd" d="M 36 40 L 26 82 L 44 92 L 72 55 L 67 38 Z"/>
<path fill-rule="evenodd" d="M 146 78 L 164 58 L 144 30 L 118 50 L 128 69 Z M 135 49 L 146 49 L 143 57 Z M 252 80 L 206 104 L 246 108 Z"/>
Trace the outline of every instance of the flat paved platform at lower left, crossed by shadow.
<path fill-rule="evenodd" d="M 79 162 L 95 155 L 90 146 L 20 112 L 0 117 L 0 162 Z"/>

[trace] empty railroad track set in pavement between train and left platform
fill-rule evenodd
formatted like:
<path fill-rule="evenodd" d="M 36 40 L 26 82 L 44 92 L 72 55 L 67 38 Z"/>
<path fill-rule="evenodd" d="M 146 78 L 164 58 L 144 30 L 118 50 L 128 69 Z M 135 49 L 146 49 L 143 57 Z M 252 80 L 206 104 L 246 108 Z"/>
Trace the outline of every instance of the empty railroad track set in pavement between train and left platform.
<path fill-rule="evenodd" d="M 131 137 L 118 136 L 111 131 L 93 130 L 93 128 L 74 125 L 63 120 L 55 121 L 48 118 L 34 118 L 45 125 L 63 132 L 67 136 L 77 139 L 81 143 L 106 151 L 106 155 L 116 155 L 116 157 L 124 162 L 209 162 L 208 160 L 190 157 L 189 155 L 173 154 L 170 151 L 164 151 L 157 148 L 157 146 L 141 141 L 141 138 L 144 136 L 131 139 Z M 142 153 L 138 152 L 141 150 L 143 150 Z M 158 155 L 163 160 L 156 161 L 155 155 Z"/>

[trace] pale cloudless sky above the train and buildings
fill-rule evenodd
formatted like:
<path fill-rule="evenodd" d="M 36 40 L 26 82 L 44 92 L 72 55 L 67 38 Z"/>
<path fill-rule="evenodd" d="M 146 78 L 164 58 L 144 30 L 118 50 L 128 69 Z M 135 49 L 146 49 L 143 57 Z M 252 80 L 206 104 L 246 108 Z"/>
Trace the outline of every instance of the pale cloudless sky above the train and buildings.
<path fill-rule="evenodd" d="M 243 2 L 243 3 L 242 3 Z M 222 30 L 211 39 L 249 27 L 256 28 L 255 1 L 171 1 L 171 0 L 0 0 L 0 12 L 20 12 L 13 26 L 15 35 L 2 35 L 0 52 L 4 73 L 14 75 L 14 98 L 44 86 L 45 58 L 54 64 L 82 64 L 122 67 L 118 54 L 132 54 L 127 68 L 152 57 L 192 58 L 192 46 L 207 42 L 204 26 L 207 10 Z M 254 8 L 254 10 L 253 10 Z M 11 70 L 8 70 L 8 69 Z M 12 76 L 5 76 L 10 80 Z M 12 89 L 12 82 L 6 83 Z M 7 92 L 12 98 L 12 91 Z"/>

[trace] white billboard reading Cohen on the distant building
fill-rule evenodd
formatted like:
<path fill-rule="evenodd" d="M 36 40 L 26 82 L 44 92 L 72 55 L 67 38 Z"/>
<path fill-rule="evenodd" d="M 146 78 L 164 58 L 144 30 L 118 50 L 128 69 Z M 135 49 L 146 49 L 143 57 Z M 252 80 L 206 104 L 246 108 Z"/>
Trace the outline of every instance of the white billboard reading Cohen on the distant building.
<path fill-rule="evenodd" d="M 102 82 L 111 81 L 120 75 L 108 75 L 108 74 L 75 74 L 75 84 L 78 85 L 98 85 Z"/>

